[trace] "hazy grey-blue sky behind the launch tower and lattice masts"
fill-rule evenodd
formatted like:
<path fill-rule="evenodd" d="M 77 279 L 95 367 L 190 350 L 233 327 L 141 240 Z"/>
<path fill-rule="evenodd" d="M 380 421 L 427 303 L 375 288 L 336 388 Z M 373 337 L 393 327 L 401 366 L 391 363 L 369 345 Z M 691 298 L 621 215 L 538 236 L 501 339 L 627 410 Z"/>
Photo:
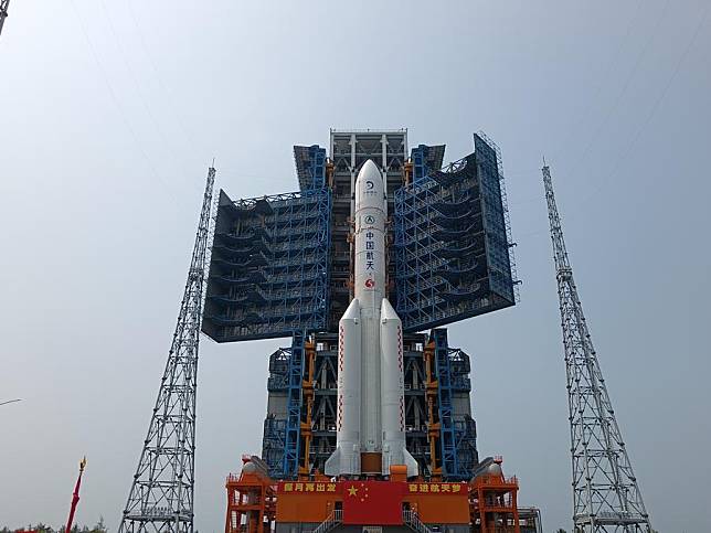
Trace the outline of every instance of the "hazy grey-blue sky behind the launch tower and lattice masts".
<path fill-rule="evenodd" d="M 711 530 L 707 0 L 13 0 L 0 36 L 0 525 L 115 531 L 165 364 L 208 163 L 233 198 L 297 189 L 291 146 L 407 127 L 503 153 L 514 308 L 449 328 L 481 456 L 570 529 L 565 374 L 541 157 L 654 524 Z M 197 520 L 258 452 L 267 356 L 201 351 Z"/>

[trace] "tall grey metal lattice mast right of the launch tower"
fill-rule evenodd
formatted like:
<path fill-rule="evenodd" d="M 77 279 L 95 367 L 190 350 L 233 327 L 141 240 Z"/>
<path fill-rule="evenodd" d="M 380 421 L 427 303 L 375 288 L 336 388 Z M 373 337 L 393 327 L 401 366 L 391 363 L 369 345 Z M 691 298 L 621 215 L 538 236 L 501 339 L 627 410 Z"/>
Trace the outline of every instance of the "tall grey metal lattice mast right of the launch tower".
<path fill-rule="evenodd" d="M 542 169 L 560 299 L 573 461 L 575 533 L 649 533 L 632 469 L 573 281 L 548 166 Z"/>

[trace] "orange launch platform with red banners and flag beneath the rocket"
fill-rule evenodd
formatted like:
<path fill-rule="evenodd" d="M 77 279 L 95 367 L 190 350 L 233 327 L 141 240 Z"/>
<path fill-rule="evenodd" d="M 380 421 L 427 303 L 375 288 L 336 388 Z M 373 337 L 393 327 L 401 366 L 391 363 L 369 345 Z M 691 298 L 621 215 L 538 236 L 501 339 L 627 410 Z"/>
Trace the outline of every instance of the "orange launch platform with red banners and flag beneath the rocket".
<path fill-rule="evenodd" d="M 389 480 L 275 481 L 261 459 L 245 456 L 242 473 L 227 478 L 225 533 L 540 531 L 537 513 L 519 515 L 518 480 L 506 478 L 500 463 L 495 459 L 470 482 L 406 480 L 402 466 Z"/>

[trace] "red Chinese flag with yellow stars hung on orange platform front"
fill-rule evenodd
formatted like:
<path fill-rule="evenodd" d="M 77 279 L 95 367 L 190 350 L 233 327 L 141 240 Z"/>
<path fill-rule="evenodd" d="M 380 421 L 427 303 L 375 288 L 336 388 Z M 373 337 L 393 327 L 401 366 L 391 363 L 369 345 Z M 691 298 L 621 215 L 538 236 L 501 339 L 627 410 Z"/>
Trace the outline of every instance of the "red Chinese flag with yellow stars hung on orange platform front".
<path fill-rule="evenodd" d="M 342 491 L 343 524 L 402 524 L 402 483 L 344 481 Z"/>

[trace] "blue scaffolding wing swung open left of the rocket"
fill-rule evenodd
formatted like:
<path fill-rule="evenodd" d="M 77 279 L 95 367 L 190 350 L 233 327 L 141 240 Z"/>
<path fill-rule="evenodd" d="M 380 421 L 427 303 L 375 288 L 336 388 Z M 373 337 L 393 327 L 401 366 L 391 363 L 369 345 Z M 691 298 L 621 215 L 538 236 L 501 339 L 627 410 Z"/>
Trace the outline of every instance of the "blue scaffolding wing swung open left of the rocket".
<path fill-rule="evenodd" d="M 328 188 L 233 202 L 220 192 L 203 331 L 217 342 L 327 324 Z"/>

